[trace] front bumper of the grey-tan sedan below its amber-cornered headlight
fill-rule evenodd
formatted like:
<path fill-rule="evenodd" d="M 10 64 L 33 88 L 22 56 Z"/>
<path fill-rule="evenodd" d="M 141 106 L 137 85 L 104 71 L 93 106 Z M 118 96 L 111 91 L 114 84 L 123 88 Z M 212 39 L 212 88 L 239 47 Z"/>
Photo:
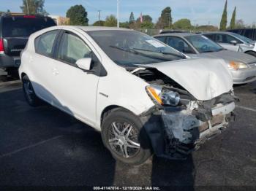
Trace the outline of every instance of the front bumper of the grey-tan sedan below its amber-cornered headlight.
<path fill-rule="evenodd" d="M 256 66 L 248 69 L 231 70 L 234 84 L 246 84 L 256 80 Z"/>

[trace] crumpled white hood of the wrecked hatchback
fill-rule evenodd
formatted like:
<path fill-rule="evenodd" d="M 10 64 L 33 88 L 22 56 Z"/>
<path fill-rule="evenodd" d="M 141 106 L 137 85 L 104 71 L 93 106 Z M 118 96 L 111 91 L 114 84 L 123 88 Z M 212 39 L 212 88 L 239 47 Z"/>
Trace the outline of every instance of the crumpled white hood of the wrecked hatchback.
<path fill-rule="evenodd" d="M 161 71 L 200 101 L 233 89 L 232 75 L 222 59 L 191 58 L 140 66 Z"/>

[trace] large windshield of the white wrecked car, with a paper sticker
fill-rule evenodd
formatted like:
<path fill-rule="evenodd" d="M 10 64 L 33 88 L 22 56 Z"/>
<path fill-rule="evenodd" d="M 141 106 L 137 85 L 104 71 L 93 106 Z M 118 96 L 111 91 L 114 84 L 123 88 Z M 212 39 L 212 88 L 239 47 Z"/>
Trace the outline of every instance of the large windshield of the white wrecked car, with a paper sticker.
<path fill-rule="evenodd" d="M 120 66 L 160 63 L 185 58 L 181 52 L 138 31 L 87 31 L 99 47 Z"/>

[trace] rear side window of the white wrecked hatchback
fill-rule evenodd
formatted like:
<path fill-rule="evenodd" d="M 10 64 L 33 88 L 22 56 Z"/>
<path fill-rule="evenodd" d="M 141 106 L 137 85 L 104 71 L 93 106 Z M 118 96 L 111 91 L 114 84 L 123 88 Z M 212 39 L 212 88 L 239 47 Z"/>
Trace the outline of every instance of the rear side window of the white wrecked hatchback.
<path fill-rule="evenodd" d="M 35 50 L 40 55 L 52 56 L 53 55 L 53 43 L 58 34 L 58 30 L 50 31 L 35 39 Z"/>

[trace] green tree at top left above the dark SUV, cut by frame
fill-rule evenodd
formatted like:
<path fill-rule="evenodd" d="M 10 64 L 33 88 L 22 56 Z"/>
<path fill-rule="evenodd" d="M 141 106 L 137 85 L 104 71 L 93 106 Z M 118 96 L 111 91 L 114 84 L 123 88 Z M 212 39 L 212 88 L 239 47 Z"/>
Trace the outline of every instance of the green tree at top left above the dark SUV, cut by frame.
<path fill-rule="evenodd" d="M 23 4 L 20 6 L 20 9 L 26 14 L 48 15 L 48 12 L 44 9 L 44 4 L 45 0 L 23 0 Z"/>

